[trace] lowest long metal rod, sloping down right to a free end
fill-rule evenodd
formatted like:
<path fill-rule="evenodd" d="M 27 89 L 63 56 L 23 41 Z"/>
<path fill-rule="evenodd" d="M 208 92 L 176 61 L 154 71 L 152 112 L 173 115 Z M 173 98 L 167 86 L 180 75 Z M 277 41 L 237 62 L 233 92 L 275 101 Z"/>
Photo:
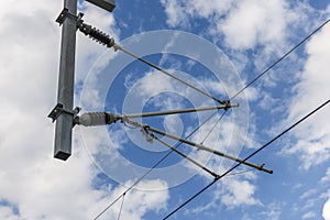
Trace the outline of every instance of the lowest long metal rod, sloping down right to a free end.
<path fill-rule="evenodd" d="M 244 162 L 244 161 L 242 161 L 242 160 L 240 160 L 240 158 L 238 158 L 238 157 L 234 157 L 234 156 L 224 154 L 224 153 L 222 153 L 222 152 L 215 151 L 215 150 L 209 148 L 209 147 L 207 147 L 207 146 L 205 146 L 205 145 L 202 145 L 202 144 L 198 144 L 198 143 L 188 141 L 188 140 L 186 140 L 186 139 L 182 139 L 182 138 L 175 136 L 175 135 L 173 135 L 173 134 L 168 134 L 168 133 L 166 133 L 166 132 L 164 132 L 164 131 L 161 131 L 161 130 L 157 130 L 157 129 L 154 129 L 154 128 L 151 128 L 151 127 L 146 127 L 146 129 L 150 130 L 150 131 L 152 131 L 152 132 L 155 132 L 155 133 L 157 133 L 157 134 L 161 134 L 161 135 L 167 136 L 167 138 L 169 138 L 169 139 L 173 139 L 173 140 L 179 141 L 179 142 L 183 142 L 183 143 L 185 143 L 185 144 L 195 146 L 195 147 L 197 147 L 197 148 L 199 148 L 199 150 L 204 150 L 204 151 L 207 151 L 207 152 L 217 154 L 217 155 L 219 155 L 219 156 L 229 158 L 229 160 L 231 160 L 231 161 L 235 161 L 235 162 L 245 164 L 246 166 L 251 166 L 251 167 L 256 168 L 256 169 L 258 169 L 258 170 L 263 170 L 263 172 L 266 172 L 266 173 L 268 173 L 268 174 L 273 174 L 273 170 L 264 168 L 264 164 L 262 164 L 262 165 L 255 165 L 255 164 L 252 164 L 252 163 L 250 163 L 250 162 Z"/>

